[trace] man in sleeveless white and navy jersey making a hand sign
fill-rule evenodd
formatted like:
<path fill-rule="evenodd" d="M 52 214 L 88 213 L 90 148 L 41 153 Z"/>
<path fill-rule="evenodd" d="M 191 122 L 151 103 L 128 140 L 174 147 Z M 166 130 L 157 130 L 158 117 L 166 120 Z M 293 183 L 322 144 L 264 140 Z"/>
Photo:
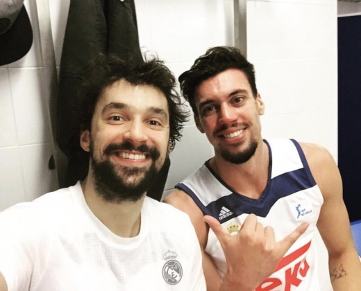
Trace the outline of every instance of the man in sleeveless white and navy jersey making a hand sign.
<path fill-rule="evenodd" d="M 190 215 L 208 290 L 324 291 L 317 228 L 333 288 L 358 290 L 360 261 L 328 151 L 262 139 L 265 105 L 253 65 L 236 48 L 210 48 L 179 81 L 215 156 L 165 202 Z"/>

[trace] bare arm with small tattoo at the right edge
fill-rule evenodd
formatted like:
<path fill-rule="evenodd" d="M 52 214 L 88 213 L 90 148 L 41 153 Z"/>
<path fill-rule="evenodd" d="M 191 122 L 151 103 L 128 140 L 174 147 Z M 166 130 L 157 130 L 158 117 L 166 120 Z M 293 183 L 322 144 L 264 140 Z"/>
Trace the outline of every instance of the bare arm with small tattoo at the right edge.
<path fill-rule="evenodd" d="M 361 263 L 351 235 L 349 215 L 342 199 L 342 179 L 333 157 L 319 145 L 301 143 L 310 170 L 324 197 L 317 227 L 328 249 L 334 290 L 358 290 Z"/>

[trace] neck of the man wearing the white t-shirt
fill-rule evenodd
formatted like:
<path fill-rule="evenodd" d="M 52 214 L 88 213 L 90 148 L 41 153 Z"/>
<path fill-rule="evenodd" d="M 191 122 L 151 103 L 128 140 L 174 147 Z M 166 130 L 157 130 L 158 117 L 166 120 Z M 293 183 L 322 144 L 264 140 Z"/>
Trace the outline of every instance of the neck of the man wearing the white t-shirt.
<path fill-rule="evenodd" d="M 117 236 L 131 238 L 140 232 L 140 211 L 145 193 L 136 202 L 108 202 L 95 189 L 90 175 L 82 182 L 85 202 L 94 215 Z"/>

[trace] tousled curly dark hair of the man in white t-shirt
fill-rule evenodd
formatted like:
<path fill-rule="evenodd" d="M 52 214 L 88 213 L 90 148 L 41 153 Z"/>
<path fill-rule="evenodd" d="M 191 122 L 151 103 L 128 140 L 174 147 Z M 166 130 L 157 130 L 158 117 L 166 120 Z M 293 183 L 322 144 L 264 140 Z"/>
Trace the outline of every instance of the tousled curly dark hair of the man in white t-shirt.
<path fill-rule="evenodd" d="M 80 91 L 83 101 L 81 131 L 91 130 L 96 103 L 104 89 L 124 79 L 132 85 L 156 87 L 165 94 L 169 109 L 169 149 L 174 149 L 176 141 L 181 139 L 183 123 L 187 121 L 189 114 L 182 110 L 181 97 L 175 90 L 176 79 L 164 62 L 156 57 L 142 62 L 135 60 L 125 62 L 115 55 L 101 54 L 89 65 L 87 76 Z"/>

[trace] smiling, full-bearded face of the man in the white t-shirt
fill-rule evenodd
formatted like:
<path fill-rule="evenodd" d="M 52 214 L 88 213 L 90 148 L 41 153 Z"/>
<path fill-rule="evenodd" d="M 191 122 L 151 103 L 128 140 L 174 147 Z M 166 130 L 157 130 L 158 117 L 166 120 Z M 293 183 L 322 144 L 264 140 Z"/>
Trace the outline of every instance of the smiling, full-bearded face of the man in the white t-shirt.
<path fill-rule="evenodd" d="M 81 146 L 90 151 L 88 179 L 105 200 L 138 200 L 168 154 L 165 95 L 126 80 L 110 85 L 96 103 L 91 130 L 81 133 Z"/>

